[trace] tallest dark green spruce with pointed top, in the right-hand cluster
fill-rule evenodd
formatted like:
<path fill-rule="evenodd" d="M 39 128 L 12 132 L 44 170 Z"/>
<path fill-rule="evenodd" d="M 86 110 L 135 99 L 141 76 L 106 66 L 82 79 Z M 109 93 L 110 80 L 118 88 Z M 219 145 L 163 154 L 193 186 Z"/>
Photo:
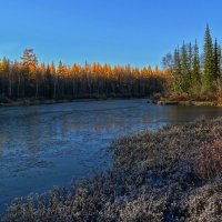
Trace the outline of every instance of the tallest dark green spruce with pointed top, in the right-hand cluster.
<path fill-rule="evenodd" d="M 210 91 L 212 89 L 213 83 L 213 44 L 211 39 L 211 32 L 209 24 L 205 30 L 205 39 L 204 39 L 204 70 L 203 70 L 203 91 Z"/>

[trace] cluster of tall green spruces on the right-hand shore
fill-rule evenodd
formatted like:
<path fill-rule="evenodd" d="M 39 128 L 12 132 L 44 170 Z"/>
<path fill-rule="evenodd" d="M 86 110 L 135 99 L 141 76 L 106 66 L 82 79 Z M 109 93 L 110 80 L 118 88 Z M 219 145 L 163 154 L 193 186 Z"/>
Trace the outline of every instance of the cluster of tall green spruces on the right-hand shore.
<path fill-rule="evenodd" d="M 222 79 L 221 46 L 212 41 L 209 24 L 205 29 L 203 52 L 199 44 L 184 43 L 163 58 L 171 73 L 170 91 L 176 94 L 208 94 L 220 89 Z"/>

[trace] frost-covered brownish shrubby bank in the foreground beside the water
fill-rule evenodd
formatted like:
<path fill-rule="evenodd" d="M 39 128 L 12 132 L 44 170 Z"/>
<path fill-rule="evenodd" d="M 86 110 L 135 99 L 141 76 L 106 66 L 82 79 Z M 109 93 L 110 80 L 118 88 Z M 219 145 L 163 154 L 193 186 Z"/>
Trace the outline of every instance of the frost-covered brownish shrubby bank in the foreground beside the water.
<path fill-rule="evenodd" d="M 2 221 L 221 221 L 222 118 L 113 142 L 104 175 L 16 200 Z"/>

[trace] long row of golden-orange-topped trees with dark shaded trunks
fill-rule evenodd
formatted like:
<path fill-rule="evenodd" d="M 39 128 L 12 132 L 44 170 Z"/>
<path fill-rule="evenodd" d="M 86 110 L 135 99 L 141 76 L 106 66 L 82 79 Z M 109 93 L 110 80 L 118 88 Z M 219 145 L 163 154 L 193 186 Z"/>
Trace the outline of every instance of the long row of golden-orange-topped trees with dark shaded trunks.
<path fill-rule="evenodd" d="M 9 99 L 145 97 L 162 92 L 165 79 L 158 67 L 38 64 L 32 49 L 24 50 L 20 62 L 0 61 L 0 95 Z"/>

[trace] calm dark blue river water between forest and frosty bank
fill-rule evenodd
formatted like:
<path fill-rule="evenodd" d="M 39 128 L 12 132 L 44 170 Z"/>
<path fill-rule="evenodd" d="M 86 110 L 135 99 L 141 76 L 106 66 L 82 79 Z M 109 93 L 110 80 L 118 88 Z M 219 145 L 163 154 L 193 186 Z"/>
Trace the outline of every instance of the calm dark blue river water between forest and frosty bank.
<path fill-rule="evenodd" d="M 144 99 L 0 109 L 0 211 L 16 196 L 70 185 L 111 165 L 111 140 L 221 108 L 160 107 Z"/>

